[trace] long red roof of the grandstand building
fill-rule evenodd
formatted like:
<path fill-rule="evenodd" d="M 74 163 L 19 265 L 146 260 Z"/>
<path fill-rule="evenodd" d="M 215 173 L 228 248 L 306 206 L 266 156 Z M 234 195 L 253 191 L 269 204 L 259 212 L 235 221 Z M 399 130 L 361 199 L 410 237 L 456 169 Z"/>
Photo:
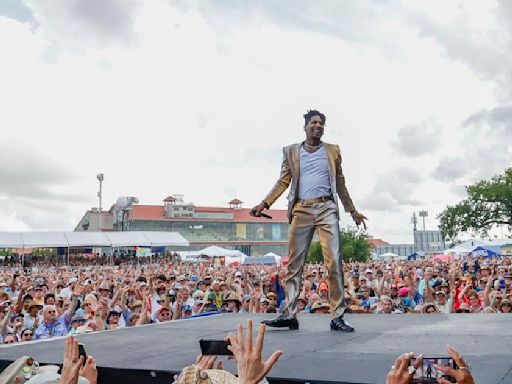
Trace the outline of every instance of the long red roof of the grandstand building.
<path fill-rule="evenodd" d="M 164 207 L 162 205 L 133 205 L 130 212 L 130 220 L 174 220 L 174 221 L 233 221 L 233 222 L 277 222 L 287 223 L 287 211 L 284 209 L 270 209 L 265 211 L 266 214 L 272 216 L 273 220 L 263 217 L 253 217 L 249 215 L 250 208 L 232 209 L 220 207 L 195 207 L 196 212 L 211 213 L 231 213 L 233 219 L 217 219 L 217 218 L 198 218 L 198 217 L 165 217 Z"/>

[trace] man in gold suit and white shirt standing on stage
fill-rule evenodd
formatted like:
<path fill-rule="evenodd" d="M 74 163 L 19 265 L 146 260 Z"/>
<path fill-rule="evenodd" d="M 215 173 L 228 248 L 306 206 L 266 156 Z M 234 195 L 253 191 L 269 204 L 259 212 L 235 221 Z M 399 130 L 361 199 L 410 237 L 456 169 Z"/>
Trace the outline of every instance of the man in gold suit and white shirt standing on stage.
<path fill-rule="evenodd" d="M 291 184 L 288 194 L 290 221 L 289 262 L 286 274 L 286 307 L 276 319 L 264 323 L 271 327 L 298 329 L 296 308 L 300 294 L 302 271 L 315 229 L 318 231 L 324 262 L 329 273 L 331 329 L 352 332 L 343 320 L 345 312 L 343 267 L 340 249 L 339 211 L 336 195 L 346 212 L 359 226 L 366 228 L 366 217 L 357 212 L 345 186 L 340 149 L 321 141 L 325 115 L 312 110 L 304 115 L 306 141 L 283 149 L 281 175 L 270 193 L 251 214 L 261 216 L 264 209 L 281 196 Z"/>

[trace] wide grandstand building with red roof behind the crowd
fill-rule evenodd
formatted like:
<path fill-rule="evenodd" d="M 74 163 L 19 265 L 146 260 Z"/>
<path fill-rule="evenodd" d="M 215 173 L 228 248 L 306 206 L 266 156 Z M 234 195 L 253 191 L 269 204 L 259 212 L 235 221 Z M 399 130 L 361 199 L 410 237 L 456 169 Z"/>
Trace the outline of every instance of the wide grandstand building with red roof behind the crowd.
<path fill-rule="evenodd" d="M 269 220 L 252 217 L 250 209 L 243 208 L 238 199 L 230 201 L 228 207 L 203 207 L 185 203 L 181 195 L 172 195 L 163 203 L 133 204 L 123 210 L 113 205 L 107 214 L 103 213 L 109 219 L 102 220 L 102 230 L 179 232 L 190 242 L 191 251 L 218 245 L 252 256 L 288 254 L 286 210 L 265 211 L 272 216 Z M 75 231 L 94 230 L 96 226 L 91 224 L 98 222 L 97 215 L 97 211 L 87 211 Z"/>

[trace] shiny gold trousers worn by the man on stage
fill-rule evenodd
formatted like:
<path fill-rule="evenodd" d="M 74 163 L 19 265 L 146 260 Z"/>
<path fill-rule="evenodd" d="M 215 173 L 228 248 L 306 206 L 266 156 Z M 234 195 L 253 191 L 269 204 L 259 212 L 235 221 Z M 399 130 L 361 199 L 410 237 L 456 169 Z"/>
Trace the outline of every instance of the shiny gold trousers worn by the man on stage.
<path fill-rule="evenodd" d="M 315 229 L 320 238 L 324 263 L 329 274 L 329 303 L 331 316 L 341 316 L 345 311 L 343 261 L 340 249 L 340 228 L 333 201 L 305 205 L 296 203 L 292 210 L 289 260 L 286 273 L 285 316 L 295 316 L 301 292 L 302 272 Z"/>

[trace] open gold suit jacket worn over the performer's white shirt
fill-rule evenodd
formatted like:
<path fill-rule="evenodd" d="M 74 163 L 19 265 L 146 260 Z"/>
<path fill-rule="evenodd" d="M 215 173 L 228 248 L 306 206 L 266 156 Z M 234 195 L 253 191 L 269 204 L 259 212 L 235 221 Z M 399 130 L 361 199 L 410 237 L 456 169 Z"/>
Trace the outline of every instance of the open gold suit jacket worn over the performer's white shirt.
<path fill-rule="evenodd" d="M 341 153 L 340 147 L 336 144 L 323 143 L 327 157 L 329 160 L 329 174 L 331 182 L 331 191 L 333 194 L 334 202 L 336 203 L 336 212 L 339 218 L 338 199 L 339 196 L 345 212 L 355 210 L 354 203 L 350 198 L 347 187 L 345 185 L 345 176 L 341 168 Z M 281 174 L 279 179 L 272 187 L 272 190 L 265 197 L 264 201 L 270 207 L 274 202 L 283 194 L 284 191 L 290 186 L 290 193 L 288 193 L 288 219 L 292 220 L 292 209 L 298 200 L 297 192 L 299 186 L 299 153 L 302 143 L 292 144 L 283 148 L 283 163 L 281 165 Z"/>

